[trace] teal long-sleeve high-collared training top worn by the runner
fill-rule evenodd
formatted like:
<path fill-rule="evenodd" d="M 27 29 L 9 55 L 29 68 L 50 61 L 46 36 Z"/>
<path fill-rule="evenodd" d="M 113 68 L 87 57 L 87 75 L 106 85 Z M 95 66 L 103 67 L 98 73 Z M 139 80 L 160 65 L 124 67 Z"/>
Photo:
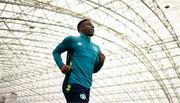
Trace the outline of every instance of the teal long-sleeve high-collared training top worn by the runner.
<path fill-rule="evenodd" d="M 91 38 L 85 34 L 66 37 L 53 51 L 54 60 L 59 68 L 64 65 L 61 53 L 68 50 L 73 50 L 69 83 L 77 83 L 90 88 L 92 74 L 98 72 L 103 66 L 99 58 L 99 46 L 92 43 Z"/>

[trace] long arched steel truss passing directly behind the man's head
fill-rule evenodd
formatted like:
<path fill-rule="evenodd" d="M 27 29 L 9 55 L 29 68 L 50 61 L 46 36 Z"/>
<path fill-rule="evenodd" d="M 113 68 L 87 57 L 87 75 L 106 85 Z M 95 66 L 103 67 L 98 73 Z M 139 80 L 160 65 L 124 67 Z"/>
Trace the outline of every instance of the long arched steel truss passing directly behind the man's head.
<path fill-rule="evenodd" d="M 13 3 L 13 4 L 16 4 L 16 3 Z M 19 5 L 22 5 L 22 3 L 19 3 Z M 81 14 L 75 13 L 75 12 L 70 11 L 70 10 L 62 9 L 60 7 L 56 7 L 53 5 L 48 5 L 48 6 L 46 5 L 45 7 L 43 7 L 43 5 L 45 5 L 45 4 L 40 4 L 39 6 L 33 5 L 32 7 L 38 7 L 38 8 L 46 9 L 46 10 L 53 11 L 53 12 L 63 13 L 63 14 L 70 15 L 72 17 L 81 18 L 81 19 L 87 18 Z M 24 6 L 29 6 L 29 4 L 27 5 L 27 3 L 26 3 Z M 167 96 L 168 100 L 172 101 L 172 98 L 171 98 L 169 92 L 167 91 L 167 87 L 164 85 L 164 82 L 162 81 L 161 77 L 159 76 L 159 74 L 155 70 L 154 66 L 150 63 L 148 58 L 143 54 L 143 52 L 136 45 L 134 45 L 130 40 L 128 40 L 128 38 L 126 38 L 123 34 L 119 33 L 118 31 L 114 30 L 113 28 L 110 28 L 110 27 L 107 27 L 101 23 L 98 23 L 95 20 L 93 20 L 93 21 L 97 25 L 103 26 L 106 29 L 109 29 L 112 32 L 116 33 L 119 38 L 121 38 L 121 39 L 123 38 L 124 42 L 126 42 L 134 50 L 134 53 L 133 53 L 134 56 L 136 56 L 147 67 L 147 69 L 152 73 L 152 75 L 155 77 L 155 79 L 159 83 L 160 87 L 164 91 L 165 95 Z M 143 56 L 139 56 L 139 55 L 143 55 Z"/>

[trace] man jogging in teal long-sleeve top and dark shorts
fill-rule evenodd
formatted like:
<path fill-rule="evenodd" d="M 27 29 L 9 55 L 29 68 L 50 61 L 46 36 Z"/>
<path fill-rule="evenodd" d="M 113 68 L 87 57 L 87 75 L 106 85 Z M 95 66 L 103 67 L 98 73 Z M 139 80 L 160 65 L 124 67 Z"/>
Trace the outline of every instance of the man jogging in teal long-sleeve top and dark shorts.
<path fill-rule="evenodd" d="M 77 26 L 80 36 L 66 37 L 53 51 L 53 57 L 61 72 L 66 74 L 63 93 L 67 103 L 88 103 L 92 74 L 103 66 L 105 56 L 99 46 L 91 42 L 94 26 L 89 19 Z M 66 65 L 61 53 L 67 51 Z"/>

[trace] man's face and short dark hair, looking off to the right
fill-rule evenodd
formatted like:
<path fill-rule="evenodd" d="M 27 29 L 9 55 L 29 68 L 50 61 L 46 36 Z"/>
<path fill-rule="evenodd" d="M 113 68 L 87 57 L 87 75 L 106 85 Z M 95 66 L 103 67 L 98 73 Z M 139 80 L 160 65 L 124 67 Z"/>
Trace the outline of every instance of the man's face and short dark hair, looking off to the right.
<path fill-rule="evenodd" d="M 80 26 L 80 30 L 82 33 L 84 33 L 87 36 L 94 35 L 94 26 L 90 20 L 84 21 Z"/>

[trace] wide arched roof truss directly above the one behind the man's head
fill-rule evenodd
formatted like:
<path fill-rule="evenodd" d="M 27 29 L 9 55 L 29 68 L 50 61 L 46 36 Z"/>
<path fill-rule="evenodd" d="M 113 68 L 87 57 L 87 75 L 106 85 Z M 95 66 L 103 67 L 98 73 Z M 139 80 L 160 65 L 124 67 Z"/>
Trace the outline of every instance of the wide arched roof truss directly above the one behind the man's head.
<path fill-rule="evenodd" d="M 171 63 L 172 66 L 174 67 L 174 70 L 176 71 L 176 74 L 177 74 L 178 78 L 180 78 L 180 72 L 178 71 L 178 68 L 177 68 L 177 66 L 176 66 L 176 63 L 175 63 L 174 59 L 172 58 L 172 56 L 171 56 L 168 48 L 166 47 L 165 43 L 163 42 L 163 40 L 158 36 L 157 32 L 146 22 L 146 20 L 143 19 L 143 18 L 142 18 L 136 11 L 134 11 L 129 5 L 127 5 L 127 4 L 126 4 L 125 2 L 123 2 L 122 0 L 119 1 L 119 2 L 122 2 L 122 3 L 127 7 L 127 9 L 132 13 L 132 15 L 134 15 L 134 16 L 137 17 L 137 18 L 136 18 L 137 20 L 134 20 L 134 18 L 132 18 L 132 19 L 129 18 L 129 17 L 127 18 L 127 17 L 125 17 L 125 16 L 123 16 L 123 15 L 117 13 L 117 12 L 114 12 L 111 8 L 106 7 L 106 5 L 109 4 L 109 3 L 104 4 L 104 5 L 101 5 L 101 4 L 98 4 L 98 3 L 94 2 L 94 1 L 91 1 L 91 0 L 89 0 L 89 1 L 80 0 L 80 1 L 83 1 L 83 2 L 85 2 L 85 3 L 91 2 L 91 3 L 93 3 L 94 5 L 98 5 L 99 7 L 103 7 L 103 8 L 105 8 L 106 10 L 111 11 L 111 12 L 113 12 L 114 14 L 117 14 L 117 15 L 123 17 L 124 19 L 126 19 L 127 21 L 131 22 L 132 24 L 134 24 L 135 26 L 137 26 L 138 28 L 140 28 L 143 32 L 145 32 L 146 34 L 148 34 L 149 36 L 150 36 L 150 35 L 151 35 L 151 36 L 152 36 L 152 35 L 155 35 L 155 36 L 158 38 L 158 40 L 160 41 L 160 42 L 156 42 L 156 43 L 162 48 L 162 50 L 163 50 L 164 53 L 166 54 L 167 58 L 169 59 L 170 63 Z M 87 3 L 87 4 L 88 4 L 88 3 Z M 88 5 L 90 5 L 90 4 L 88 4 Z M 91 5 L 91 6 L 93 6 L 93 5 Z M 96 7 L 96 8 L 97 8 L 97 7 Z M 104 11 L 104 12 L 105 12 L 105 11 Z M 128 14 L 128 12 L 124 12 L 124 15 L 126 15 L 126 14 Z M 150 36 L 150 37 L 151 37 L 151 36 Z M 153 38 L 152 38 L 152 39 L 153 39 Z M 154 39 L 153 39 L 153 40 L 154 40 Z M 155 41 L 155 40 L 154 40 L 154 41 Z"/>

